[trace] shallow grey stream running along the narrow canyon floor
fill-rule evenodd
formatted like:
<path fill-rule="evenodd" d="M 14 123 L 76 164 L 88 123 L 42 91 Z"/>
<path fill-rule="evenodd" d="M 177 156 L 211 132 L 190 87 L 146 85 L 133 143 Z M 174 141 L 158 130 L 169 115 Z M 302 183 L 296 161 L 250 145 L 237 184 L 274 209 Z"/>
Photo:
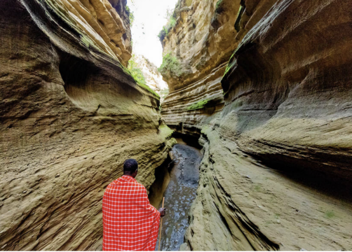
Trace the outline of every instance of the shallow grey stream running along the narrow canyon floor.
<path fill-rule="evenodd" d="M 188 227 L 188 213 L 196 198 L 200 151 L 181 140 L 172 148 L 173 164 L 164 192 L 166 215 L 162 219 L 160 250 L 179 250 Z M 161 204 L 159 207 L 161 207 Z M 159 240 L 156 242 L 158 249 Z"/>

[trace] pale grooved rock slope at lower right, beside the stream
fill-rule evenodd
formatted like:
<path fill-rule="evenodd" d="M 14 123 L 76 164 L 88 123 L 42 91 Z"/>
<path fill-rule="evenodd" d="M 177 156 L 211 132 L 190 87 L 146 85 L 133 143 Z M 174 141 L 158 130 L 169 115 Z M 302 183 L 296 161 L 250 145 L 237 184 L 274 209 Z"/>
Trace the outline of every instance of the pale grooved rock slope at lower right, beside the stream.
<path fill-rule="evenodd" d="M 285 163 L 273 169 L 224 138 L 219 122 L 202 131 L 204 158 L 183 249 L 352 248 L 349 186 L 300 167 L 285 171 Z"/>

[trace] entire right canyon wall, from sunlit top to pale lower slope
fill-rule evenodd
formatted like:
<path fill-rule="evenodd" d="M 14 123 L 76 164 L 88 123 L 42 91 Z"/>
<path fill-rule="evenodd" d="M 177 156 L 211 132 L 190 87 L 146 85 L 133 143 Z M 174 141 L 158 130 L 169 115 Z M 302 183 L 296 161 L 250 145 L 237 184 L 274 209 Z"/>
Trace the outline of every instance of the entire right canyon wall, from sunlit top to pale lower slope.
<path fill-rule="evenodd" d="M 350 10 L 179 2 L 162 115 L 204 152 L 184 249 L 352 249 Z"/>

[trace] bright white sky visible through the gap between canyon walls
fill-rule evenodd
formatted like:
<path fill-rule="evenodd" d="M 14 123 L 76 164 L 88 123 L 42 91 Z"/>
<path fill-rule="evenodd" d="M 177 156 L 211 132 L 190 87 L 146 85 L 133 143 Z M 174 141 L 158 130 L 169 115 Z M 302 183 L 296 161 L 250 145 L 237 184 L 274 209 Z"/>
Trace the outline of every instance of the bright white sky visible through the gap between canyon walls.
<path fill-rule="evenodd" d="M 127 0 L 134 13 L 132 53 L 144 55 L 157 67 L 162 63 L 162 46 L 157 35 L 167 23 L 166 10 L 173 10 L 176 3 L 177 0 Z"/>

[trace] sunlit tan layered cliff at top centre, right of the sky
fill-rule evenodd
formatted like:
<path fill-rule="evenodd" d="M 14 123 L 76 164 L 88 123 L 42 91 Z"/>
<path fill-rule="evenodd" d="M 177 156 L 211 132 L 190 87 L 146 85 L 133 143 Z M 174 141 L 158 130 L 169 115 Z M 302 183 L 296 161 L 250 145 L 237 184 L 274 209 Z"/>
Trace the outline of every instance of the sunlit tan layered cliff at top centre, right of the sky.
<path fill-rule="evenodd" d="M 247 3 L 243 12 L 239 0 L 179 1 L 177 23 L 162 40 L 164 60 L 171 57 L 171 64 L 177 65 L 162 72 L 170 88 L 162 114 L 173 130 L 199 137 L 202 125 L 222 110 L 221 79 L 227 62 L 275 3 L 262 2 Z"/>

